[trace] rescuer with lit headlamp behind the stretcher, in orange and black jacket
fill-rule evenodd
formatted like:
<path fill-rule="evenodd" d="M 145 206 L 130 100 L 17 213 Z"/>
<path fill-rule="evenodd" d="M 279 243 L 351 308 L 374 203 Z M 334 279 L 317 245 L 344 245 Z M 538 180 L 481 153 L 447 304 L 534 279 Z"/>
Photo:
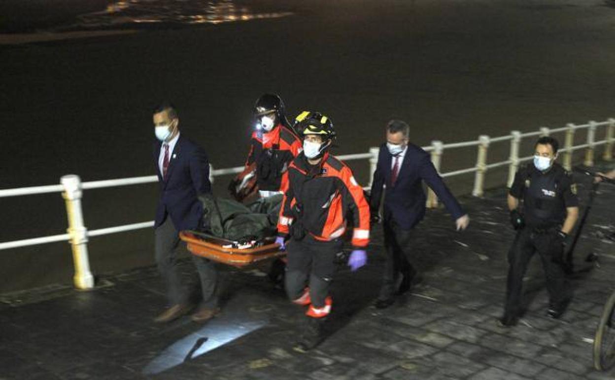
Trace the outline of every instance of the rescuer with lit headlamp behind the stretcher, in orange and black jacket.
<path fill-rule="evenodd" d="M 256 186 L 263 197 L 284 193 L 288 187 L 286 171 L 301 152 L 301 140 L 284 112 L 284 102 L 278 95 L 264 94 L 256 101 L 256 130 L 245 169 L 229 185 L 229 192 L 237 200 L 242 201 Z"/>

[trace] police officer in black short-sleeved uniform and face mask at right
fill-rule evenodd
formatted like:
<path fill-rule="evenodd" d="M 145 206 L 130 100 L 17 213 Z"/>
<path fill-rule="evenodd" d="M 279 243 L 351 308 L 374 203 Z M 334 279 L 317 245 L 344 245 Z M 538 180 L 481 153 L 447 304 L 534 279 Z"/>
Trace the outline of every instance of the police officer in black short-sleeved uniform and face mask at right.
<path fill-rule="evenodd" d="M 534 162 L 521 168 L 510 187 L 510 222 L 517 236 L 508 254 L 509 270 L 504 315 L 500 326 L 514 326 L 522 313 L 523 275 L 535 252 L 541 257 L 547 278 L 547 316 L 559 318 L 571 300 L 572 291 L 564 271 L 566 236 L 579 214 L 571 177 L 557 158 L 558 142 L 541 137 L 534 148 Z M 523 212 L 519 200 L 523 200 Z"/>

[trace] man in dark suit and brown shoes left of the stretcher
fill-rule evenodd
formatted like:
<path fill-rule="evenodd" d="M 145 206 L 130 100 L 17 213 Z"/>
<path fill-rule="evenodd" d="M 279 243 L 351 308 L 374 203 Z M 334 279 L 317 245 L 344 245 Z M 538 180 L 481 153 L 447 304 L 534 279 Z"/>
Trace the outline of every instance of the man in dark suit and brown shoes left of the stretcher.
<path fill-rule="evenodd" d="M 194 309 L 194 294 L 181 281 L 175 249 L 180 243 L 178 232 L 201 227 L 202 204 L 197 196 L 210 193 L 209 163 L 202 148 L 180 135 L 177 111 L 169 103 L 154 110 L 154 160 L 161 188 L 156 211 L 156 264 L 167 285 L 170 307 L 155 321 L 172 321 Z M 192 256 L 200 278 L 202 301 L 192 320 L 206 321 L 220 312 L 216 286 L 218 274 L 213 262 Z"/>

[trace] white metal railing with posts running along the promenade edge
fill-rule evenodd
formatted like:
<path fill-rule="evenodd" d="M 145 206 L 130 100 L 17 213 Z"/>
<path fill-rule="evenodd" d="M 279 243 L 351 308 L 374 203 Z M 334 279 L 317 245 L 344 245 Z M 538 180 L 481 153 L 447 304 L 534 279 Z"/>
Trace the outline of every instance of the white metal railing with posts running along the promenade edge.
<path fill-rule="evenodd" d="M 596 141 L 596 133 L 598 127 L 604 127 L 605 138 L 603 140 Z M 585 144 L 574 145 L 574 133 L 579 129 L 587 129 L 587 137 Z M 491 169 L 499 168 L 501 166 L 508 166 L 508 180 L 507 184 L 510 186 L 514 179 L 515 172 L 520 163 L 531 160 L 533 156 L 519 157 L 519 148 L 523 138 L 536 137 L 541 135 L 550 135 L 554 133 L 565 132 L 565 142 L 560 152 L 563 154 L 563 166 L 566 169 L 571 169 L 573 162 L 573 154 L 576 150 L 585 150 L 584 164 L 586 166 L 593 166 L 595 147 L 598 145 L 606 145 L 603 152 L 603 160 L 610 161 L 613 159 L 613 131 L 615 129 L 615 119 L 608 119 L 601 123 L 590 121 L 587 124 L 567 124 L 565 127 L 549 129 L 547 127 L 541 127 L 536 132 L 521 133 L 519 131 L 512 131 L 509 135 L 500 137 L 489 137 L 488 135 L 480 135 L 477 140 L 456 142 L 452 144 L 443 144 L 442 141 L 432 141 L 428 147 L 423 147 L 426 152 L 431 152 L 431 160 L 436 170 L 440 172 L 442 166 L 442 155 L 445 150 L 454 148 L 468 148 L 477 147 L 477 160 L 475 166 L 466 169 L 459 169 L 456 171 L 441 173 L 442 177 L 460 176 L 462 174 L 474 173 L 474 187 L 472 189 L 472 195 L 482 196 L 483 187 L 485 184 L 486 172 Z M 505 161 L 499 161 L 496 163 L 487 163 L 487 153 L 491 144 L 497 144 L 499 142 L 510 142 L 509 158 Z M 371 177 L 376 170 L 376 164 L 378 163 L 379 148 L 372 147 L 368 153 L 357 153 L 352 155 L 341 155 L 339 159 L 344 161 L 351 160 L 369 160 L 370 163 L 370 186 Z M 213 182 L 213 177 L 226 176 L 229 174 L 237 174 L 241 172 L 244 167 L 238 166 L 235 168 L 226 169 L 213 169 L 210 170 L 210 179 Z M 0 250 L 19 248 L 25 246 L 39 245 L 44 243 L 54 243 L 57 241 L 70 241 L 73 250 L 73 261 L 75 267 L 74 285 L 79 289 L 91 289 L 93 288 L 94 281 L 92 272 L 90 272 L 89 257 L 87 253 L 87 241 L 88 238 L 93 236 L 108 235 L 110 233 L 126 232 L 131 230 L 138 230 L 141 228 L 153 227 L 154 222 L 140 222 L 127 225 L 119 225 L 115 227 L 101 228 L 98 230 L 89 231 L 85 228 L 81 198 L 83 190 L 90 190 L 93 188 L 108 188 L 119 187 L 127 185 L 148 184 L 157 182 L 157 176 L 143 176 L 123 179 L 109 179 L 99 180 L 91 182 L 81 182 L 79 176 L 74 174 L 63 176 L 60 179 L 59 185 L 48 186 L 36 186 L 36 187 L 22 187 L 22 188 L 9 188 L 0 190 L 0 198 L 6 198 L 9 196 L 22 196 L 33 194 L 45 194 L 45 193 L 62 193 L 66 203 L 66 214 L 68 216 L 68 230 L 67 233 L 62 235 L 43 236 L 38 238 L 31 238 L 25 240 L 7 241 L 0 243 Z M 437 197 L 432 190 L 429 190 L 427 196 L 427 207 L 435 207 L 438 204 Z"/>

